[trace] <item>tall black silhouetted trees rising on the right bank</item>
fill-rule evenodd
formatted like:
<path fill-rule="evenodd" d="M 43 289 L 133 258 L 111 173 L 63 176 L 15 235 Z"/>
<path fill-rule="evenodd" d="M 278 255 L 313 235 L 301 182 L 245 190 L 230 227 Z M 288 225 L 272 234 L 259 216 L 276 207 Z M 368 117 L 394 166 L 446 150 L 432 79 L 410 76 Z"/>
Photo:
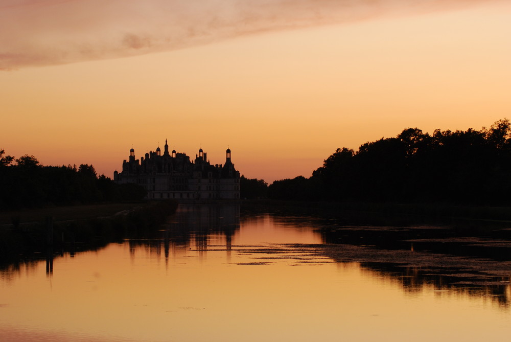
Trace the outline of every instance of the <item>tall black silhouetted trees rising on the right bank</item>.
<path fill-rule="evenodd" d="M 508 204 L 511 124 L 439 130 L 407 128 L 395 138 L 338 148 L 312 173 L 274 181 L 268 197 L 284 200 Z"/>

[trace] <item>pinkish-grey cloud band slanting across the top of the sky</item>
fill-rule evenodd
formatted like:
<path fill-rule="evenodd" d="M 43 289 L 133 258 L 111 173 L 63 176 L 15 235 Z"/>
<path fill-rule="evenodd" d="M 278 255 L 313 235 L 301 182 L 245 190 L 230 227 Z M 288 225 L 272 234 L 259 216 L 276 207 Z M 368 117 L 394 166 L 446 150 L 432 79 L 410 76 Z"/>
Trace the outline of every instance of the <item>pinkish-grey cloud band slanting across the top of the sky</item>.
<path fill-rule="evenodd" d="M 0 70 L 183 49 L 237 36 L 492 0 L 4 0 Z"/>

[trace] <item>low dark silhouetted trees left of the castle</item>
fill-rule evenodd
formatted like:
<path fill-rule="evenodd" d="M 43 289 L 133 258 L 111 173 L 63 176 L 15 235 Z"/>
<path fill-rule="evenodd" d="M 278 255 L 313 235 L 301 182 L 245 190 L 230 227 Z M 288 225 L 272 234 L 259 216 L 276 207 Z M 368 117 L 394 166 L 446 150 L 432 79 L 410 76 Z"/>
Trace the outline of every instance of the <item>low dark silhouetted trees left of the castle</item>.
<path fill-rule="evenodd" d="M 15 163 L 13 163 L 15 162 Z M 92 165 L 42 166 L 32 155 L 15 159 L 0 150 L 0 209 L 140 200 L 144 188 L 98 177 Z"/>

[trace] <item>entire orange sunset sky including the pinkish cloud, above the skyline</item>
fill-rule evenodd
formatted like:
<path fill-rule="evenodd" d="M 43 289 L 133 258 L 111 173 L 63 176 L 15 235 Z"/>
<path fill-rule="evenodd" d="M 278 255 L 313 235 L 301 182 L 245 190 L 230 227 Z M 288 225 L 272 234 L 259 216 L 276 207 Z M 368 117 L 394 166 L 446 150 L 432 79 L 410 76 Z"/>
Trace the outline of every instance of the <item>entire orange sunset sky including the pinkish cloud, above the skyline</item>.
<path fill-rule="evenodd" d="M 511 117 L 511 2 L 2 0 L 0 149 L 112 177 L 170 148 L 249 178 Z"/>

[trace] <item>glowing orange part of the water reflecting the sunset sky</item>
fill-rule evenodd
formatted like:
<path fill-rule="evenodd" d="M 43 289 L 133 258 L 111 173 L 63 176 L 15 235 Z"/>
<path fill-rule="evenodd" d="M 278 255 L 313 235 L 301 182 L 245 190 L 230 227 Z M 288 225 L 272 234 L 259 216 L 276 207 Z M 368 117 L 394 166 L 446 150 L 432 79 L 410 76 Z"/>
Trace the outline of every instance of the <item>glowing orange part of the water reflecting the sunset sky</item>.
<path fill-rule="evenodd" d="M 403 291 L 406 274 L 318 253 L 321 235 L 308 224 L 224 214 L 181 213 L 159 240 L 64 254 L 52 273 L 45 261 L 3 272 L 0 333 L 41 341 L 479 341 L 511 331 L 511 313 L 489 296 L 427 283 Z"/>

